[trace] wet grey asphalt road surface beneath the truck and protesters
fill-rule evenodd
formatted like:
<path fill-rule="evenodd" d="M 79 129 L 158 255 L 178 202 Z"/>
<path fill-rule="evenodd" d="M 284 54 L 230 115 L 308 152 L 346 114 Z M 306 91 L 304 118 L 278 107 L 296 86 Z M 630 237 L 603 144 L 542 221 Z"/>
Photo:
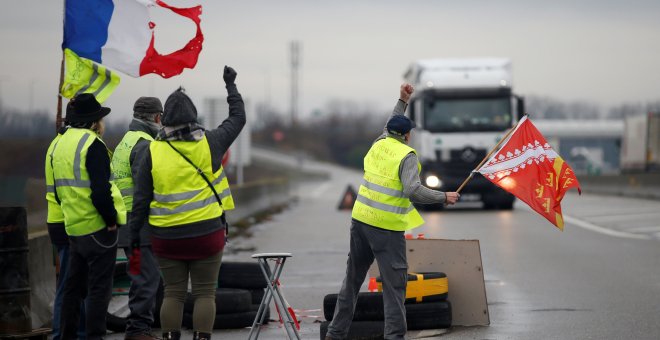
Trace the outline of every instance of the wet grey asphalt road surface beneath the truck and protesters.
<path fill-rule="evenodd" d="M 293 253 L 282 289 L 302 319 L 302 338 L 318 339 L 323 296 L 339 290 L 348 251 L 350 212 L 336 206 L 361 174 L 302 164 L 329 171 L 331 178 L 301 183 L 296 203 L 254 226 L 251 238 L 231 240 L 224 259 Z M 563 232 L 520 202 L 513 211 L 463 204 L 423 212 L 426 224 L 414 234 L 480 241 L 489 303 L 490 326 L 453 327 L 437 338 L 660 339 L 660 201 L 571 193 L 562 205 Z M 255 250 L 231 252 L 251 247 Z M 246 339 L 248 332 L 215 331 L 214 338 Z M 276 322 L 260 336 L 285 338 Z"/>

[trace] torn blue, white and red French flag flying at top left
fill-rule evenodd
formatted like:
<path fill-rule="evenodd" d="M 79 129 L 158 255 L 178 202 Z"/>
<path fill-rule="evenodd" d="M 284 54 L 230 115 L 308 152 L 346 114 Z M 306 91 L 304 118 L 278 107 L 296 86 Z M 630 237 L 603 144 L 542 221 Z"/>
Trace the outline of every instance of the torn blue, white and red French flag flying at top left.
<path fill-rule="evenodd" d="M 197 33 L 178 51 L 159 54 L 154 48 L 155 24 L 149 17 L 152 6 L 189 18 Z M 195 67 L 202 51 L 202 6 L 176 8 L 161 0 L 65 0 L 65 12 L 62 49 L 133 77 L 175 76 Z"/>

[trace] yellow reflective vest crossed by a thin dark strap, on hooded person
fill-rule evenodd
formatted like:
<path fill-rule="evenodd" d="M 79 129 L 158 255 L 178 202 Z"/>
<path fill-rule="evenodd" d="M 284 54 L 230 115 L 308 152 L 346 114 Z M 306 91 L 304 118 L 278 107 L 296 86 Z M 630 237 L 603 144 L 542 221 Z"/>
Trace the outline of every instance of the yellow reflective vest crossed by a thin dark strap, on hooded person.
<path fill-rule="evenodd" d="M 151 151 L 153 200 L 149 224 L 155 227 L 176 227 L 218 218 L 224 210 L 234 208 L 229 182 L 222 166 L 213 173 L 211 149 L 204 137 L 200 141 L 171 141 L 211 181 L 220 196 L 222 208 L 211 188 L 196 169 L 165 141 L 154 141 Z"/>

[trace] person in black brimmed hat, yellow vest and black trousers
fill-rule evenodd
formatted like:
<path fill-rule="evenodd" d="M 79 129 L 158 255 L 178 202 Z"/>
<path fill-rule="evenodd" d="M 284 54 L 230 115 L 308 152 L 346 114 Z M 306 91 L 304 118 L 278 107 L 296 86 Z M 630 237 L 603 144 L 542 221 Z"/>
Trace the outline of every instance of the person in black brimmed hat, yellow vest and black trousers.
<path fill-rule="evenodd" d="M 102 107 L 93 94 L 67 105 L 68 129 L 53 147 L 54 192 L 69 236 L 69 272 L 61 309 L 63 339 L 77 338 L 80 304 L 85 301 L 87 340 L 102 339 L 117 253 L 117 226 L 126 224 L 119 189 L 110 182 L 110 151 L 103 135 Z"/>

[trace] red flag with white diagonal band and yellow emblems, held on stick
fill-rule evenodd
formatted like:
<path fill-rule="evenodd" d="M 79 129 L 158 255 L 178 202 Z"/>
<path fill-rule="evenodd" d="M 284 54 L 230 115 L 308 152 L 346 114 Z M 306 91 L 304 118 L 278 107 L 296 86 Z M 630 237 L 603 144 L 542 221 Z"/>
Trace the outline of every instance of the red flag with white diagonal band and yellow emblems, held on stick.
<path fill-rule="evenodd" d="M 571 167 L 552 149 L 527 116 L 518 122 L 509 140 L 478 172 L 562 230 L 561 200 L 564 194 L 570 188 L 577 188 L 581 193 Z"/>

